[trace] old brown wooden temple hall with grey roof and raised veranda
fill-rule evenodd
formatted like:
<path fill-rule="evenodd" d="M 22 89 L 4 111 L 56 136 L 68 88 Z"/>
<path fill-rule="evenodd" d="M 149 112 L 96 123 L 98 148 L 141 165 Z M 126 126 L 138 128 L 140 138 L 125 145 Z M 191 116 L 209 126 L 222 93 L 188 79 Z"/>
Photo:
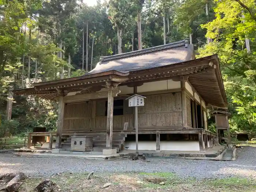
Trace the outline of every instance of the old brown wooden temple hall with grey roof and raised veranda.
<path fill-rule="evenodd" d="M 52 147 L 56 136 L 56 148 L 67 150 L 61 138 L 74 135 L 92 136 L 95 151 L 135 149 L 135 117 L 125 100 L 133 94 L 146 97 L 138 108 L 139 150 L 208 149 L 218 135 L 208 131 L 207 109 L 227 108 L 217 55 L 195 59 L 187 40 L 101 57 L 83 76 L 13 92 L 59 102 L 57 132 L 30 137 L 50 136 Z"/>

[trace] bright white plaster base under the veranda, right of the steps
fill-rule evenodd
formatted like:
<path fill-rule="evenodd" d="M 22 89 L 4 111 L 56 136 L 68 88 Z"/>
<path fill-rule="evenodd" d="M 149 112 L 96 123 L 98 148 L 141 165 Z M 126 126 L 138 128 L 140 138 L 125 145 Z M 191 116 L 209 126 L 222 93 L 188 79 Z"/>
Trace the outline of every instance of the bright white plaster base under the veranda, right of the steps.
<path fill-rule="evenodd" d="M 124 142 L 127 150 L 136 150 L 135 141 Z M 139 141 L 139 150 L 156 150 L 155 141 Z M 160 150 L 162 151 L 199 151 L 198 141 L 161 141 Z"/>

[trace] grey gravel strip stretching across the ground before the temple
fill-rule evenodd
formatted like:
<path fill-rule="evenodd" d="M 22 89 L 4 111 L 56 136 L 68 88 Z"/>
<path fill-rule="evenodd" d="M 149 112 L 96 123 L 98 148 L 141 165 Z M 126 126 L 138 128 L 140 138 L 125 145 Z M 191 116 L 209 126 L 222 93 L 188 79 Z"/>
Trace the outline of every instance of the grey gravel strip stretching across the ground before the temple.
<path fill-rule="evenodd" d="M 0 175 L 22 171 L 27 176 L 51 176 L 62 172 L 173 172 L 180 177 L 256 179 L 256 147 L 237 150 L 236 161 L 206 161 L 191 159 L 147 159 L 147 161 L 106 161 L 63 157 L 17 157 L 0 154 Z"/>

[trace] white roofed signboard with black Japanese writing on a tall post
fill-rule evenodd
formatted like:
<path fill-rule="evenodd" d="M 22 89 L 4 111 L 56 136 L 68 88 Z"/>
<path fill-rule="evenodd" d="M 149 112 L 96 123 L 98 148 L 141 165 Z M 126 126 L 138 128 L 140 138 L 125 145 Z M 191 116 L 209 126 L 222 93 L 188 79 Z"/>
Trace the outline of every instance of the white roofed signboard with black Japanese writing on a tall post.
<path fill-rule="evenodd" d="M 135 107 L 135 133 L 136 133 L 136 156 L 135 159 L 138 159 L 139 156 L 139 150 L 138 150 L 138 106 L 144 106 L 144 98 L 141 95 L 132 95 L 131 97 L 128 97 L 129 107 Z M 126 100 L 127 100 L 126 99 Z"/>

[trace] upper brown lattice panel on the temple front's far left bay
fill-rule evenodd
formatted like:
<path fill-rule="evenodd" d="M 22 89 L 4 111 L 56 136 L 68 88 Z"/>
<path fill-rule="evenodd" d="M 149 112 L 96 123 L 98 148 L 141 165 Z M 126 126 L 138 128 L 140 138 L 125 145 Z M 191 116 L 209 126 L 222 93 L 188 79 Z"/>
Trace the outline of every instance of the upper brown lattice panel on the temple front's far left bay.
<path fill-rule="evenodd" d="M 91 101 L 65 104 L 64 118 L 91 117 L 91 104 Z"/>

